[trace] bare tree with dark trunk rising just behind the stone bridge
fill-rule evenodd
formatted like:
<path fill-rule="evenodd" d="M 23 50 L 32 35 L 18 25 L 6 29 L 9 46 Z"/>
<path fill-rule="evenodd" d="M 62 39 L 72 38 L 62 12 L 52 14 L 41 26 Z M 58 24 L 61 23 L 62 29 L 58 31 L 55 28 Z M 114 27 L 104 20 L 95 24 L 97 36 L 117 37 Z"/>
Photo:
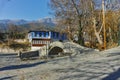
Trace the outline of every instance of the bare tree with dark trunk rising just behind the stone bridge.
<path fill-rule="evenodd" d="M 81 45 L 84 44 L 83 27 L 81 26 L 82 2 L 82 0 L 51 0 L 50 3 L 55 16 L 59 18 L 60 22 L 63 21 L 62 24 L 68 29 L 69 35 L 72 34 L 71 29 L 78 29 Z"/>

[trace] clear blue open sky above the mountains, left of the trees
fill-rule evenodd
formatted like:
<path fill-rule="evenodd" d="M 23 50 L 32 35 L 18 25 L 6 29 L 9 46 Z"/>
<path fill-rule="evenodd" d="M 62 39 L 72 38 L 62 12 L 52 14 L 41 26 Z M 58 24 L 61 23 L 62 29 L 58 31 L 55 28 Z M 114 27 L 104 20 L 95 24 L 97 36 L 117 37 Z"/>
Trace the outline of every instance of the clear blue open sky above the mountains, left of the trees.
<path fill-rule="evenodd" d="M 0 20 L 38 20 L 52 17 L 50 0 L 0 0 Z"/>

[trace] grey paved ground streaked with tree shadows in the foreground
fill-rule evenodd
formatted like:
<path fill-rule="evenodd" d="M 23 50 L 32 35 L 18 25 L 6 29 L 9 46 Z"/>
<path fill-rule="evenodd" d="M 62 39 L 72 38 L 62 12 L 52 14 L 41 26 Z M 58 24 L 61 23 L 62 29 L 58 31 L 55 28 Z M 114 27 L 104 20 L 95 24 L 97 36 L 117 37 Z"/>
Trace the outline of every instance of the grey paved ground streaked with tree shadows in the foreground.
<path fill-rule="evenodd" d="M 15 54 L 0 54 L 0 80 L 120 80 L 120 50 L 111 51 L 48 61 L 20 61 Z"/>

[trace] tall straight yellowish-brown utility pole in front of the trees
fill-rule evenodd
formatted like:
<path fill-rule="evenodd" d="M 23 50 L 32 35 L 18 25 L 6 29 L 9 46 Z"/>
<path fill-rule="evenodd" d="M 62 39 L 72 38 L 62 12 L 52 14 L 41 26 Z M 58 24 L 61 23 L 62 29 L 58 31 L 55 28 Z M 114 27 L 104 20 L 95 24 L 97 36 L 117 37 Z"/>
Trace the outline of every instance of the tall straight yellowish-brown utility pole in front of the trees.
<path fill-rule="evenodd" d="M 102 14 L 103 14 L 104 49 L 106 49 L 105 1 L 104 0 L 102 0 Z"/>

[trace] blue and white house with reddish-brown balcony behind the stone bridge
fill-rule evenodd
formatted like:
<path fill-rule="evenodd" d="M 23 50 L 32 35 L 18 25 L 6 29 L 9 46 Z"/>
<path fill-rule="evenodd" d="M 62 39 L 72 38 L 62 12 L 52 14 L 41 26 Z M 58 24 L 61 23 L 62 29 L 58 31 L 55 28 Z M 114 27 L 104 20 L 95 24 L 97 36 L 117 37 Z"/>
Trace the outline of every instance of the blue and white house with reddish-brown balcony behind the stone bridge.
<path fill-rule="evenodd" d="M 67 35 L 55 31 L 29 31 L 28 40 L 31 43 L 31 50 L 37 50 L 53 41 L 67 40 Z"/>

